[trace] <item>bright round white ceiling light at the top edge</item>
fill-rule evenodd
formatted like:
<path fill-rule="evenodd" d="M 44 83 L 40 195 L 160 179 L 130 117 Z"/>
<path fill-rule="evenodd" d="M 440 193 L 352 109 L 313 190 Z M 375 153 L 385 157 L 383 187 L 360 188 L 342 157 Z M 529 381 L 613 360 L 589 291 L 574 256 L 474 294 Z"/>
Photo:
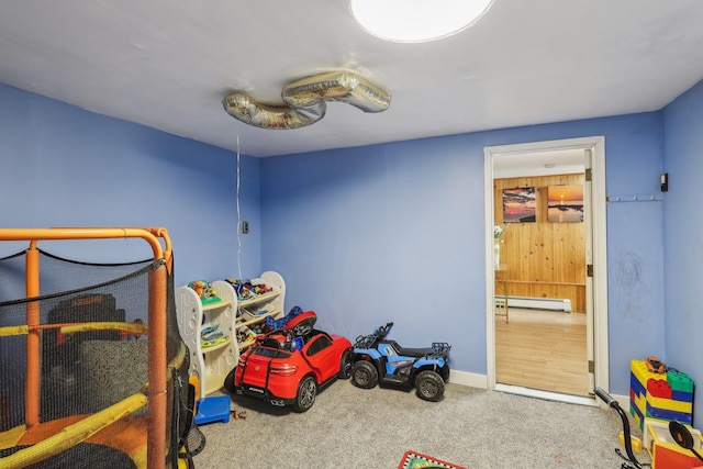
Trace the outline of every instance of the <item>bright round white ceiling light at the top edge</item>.
<path fill-rule="evenodd" d="M 492 3 L 493 0 L 352 0 L 352 14 L 377 37 L 421 43 L 469 27 Z"/>

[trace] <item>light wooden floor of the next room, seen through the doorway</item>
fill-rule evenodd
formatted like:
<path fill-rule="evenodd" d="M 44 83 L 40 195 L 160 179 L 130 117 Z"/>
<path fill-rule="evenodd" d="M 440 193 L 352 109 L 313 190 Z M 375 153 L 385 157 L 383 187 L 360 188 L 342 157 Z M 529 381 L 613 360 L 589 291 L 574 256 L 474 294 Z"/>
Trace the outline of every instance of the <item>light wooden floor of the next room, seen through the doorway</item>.
<path fill-rule="evenodd" d="M 588 395 L 585 314 L 510 309 L 495 317 L 499 383 Z"/>

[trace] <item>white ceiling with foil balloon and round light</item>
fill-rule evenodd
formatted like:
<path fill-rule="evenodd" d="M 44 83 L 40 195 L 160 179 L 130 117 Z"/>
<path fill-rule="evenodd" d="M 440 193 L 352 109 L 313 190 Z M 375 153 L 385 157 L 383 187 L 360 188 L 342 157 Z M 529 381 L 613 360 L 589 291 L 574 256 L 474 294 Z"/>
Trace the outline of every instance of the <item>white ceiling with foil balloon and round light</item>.
<path fill-rule="evenodd" d="M 391 94 L 298 130 L 230 116 L 245 91 L 353 70 Z M 438 42 L 365 33 L 347 0 L 5 0 L 0 82 L 257 157 L 659 110 L 703 78 L 702 0 L 495 0 Z"/>

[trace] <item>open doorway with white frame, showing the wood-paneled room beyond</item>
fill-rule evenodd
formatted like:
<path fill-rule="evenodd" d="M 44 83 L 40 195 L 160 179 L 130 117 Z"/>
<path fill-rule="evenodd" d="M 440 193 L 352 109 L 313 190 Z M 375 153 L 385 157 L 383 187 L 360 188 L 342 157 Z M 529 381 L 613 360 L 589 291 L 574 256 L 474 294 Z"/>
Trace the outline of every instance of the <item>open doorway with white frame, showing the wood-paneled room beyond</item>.
<path fill-rule="evenodd" d="M 592 402 L 593 387 L 607 386 L 604 158 L 603 137 L 486 148 L 490 388 Z M 581 188 L 582 200 L 559 206 L 553 197 L 549 202 L 550 188 L 556 194 L 565 187 Z M 504 200 L 510 210 L 504 211 Z M 503 230 L 498 246 L 494 226 Z M 525 326 L 522 339 L 502 335 Z M 569 334 L 576 334 L 579 347 L 569 353 L 580 360 L 566 373 L 573 373 L 571 384 L 555 380 L 562 371 L 549 369 L 545 359 L 572 346 L 563 342 Z M 511 358 L 512 343 L 520 347 L 518 340 L 539 347 L 515 350 Z M 538 354 L 546 356 L 531 356 Z"/>

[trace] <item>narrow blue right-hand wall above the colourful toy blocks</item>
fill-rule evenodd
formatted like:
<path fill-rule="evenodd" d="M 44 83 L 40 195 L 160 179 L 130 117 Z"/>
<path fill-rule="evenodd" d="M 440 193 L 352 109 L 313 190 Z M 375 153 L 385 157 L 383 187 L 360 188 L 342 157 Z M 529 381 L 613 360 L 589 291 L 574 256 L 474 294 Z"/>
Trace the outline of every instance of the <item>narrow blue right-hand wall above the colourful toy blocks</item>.
<path fill-rule="evenodd" d="M 703 364 L 698 348 L 703 333 L 703 217 L 699 206 L 703 181 L 703 81 L 663 112 L 666 360 L 691 375 L 703 402 Z M 694 413 L 695 417 L 695 413 Z M 703 417 L 695 417 L 700 425 Z"/>

